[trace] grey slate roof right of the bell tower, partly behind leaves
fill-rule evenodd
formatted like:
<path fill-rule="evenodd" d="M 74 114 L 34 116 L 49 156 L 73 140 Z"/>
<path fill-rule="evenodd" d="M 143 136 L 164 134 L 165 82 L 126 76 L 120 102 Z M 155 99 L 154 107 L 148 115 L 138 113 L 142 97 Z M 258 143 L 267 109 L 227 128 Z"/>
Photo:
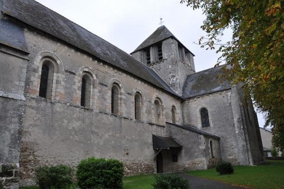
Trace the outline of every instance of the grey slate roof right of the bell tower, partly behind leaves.
<path fill-rule="evenodd" d="M 218 79 L 222 67 L 206 69 L 187 76 L 184 82 L 183 98 L 191 98 L 231 88 L 227 80 Z"/>

